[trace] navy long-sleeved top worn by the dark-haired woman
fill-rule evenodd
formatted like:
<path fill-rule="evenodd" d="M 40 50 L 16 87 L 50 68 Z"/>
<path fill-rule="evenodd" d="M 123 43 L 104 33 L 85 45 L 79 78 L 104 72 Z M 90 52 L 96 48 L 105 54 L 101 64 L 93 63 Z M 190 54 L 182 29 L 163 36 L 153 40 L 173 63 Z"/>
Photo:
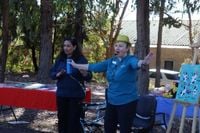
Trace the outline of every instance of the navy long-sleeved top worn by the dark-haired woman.
<path fill-rule="evenodd" d="M 80 56 L 76 63 L 87 64 L 88 61 L 84 56 Z M 53 80 L 57 80 L 56 95 L 60 97 L 83 98 L 85 94 L 81 83 L 91 80 L 92 73 L 88 72 L 87 76 L 84 77 L 78 69 L 72 67 L 72 74 L 64 73 L 62 76 L 56 77 L 56 74 L 62 69 L 66 69 L 66 59 L 58 58 L 50 70 L 50 77 Z"/>

